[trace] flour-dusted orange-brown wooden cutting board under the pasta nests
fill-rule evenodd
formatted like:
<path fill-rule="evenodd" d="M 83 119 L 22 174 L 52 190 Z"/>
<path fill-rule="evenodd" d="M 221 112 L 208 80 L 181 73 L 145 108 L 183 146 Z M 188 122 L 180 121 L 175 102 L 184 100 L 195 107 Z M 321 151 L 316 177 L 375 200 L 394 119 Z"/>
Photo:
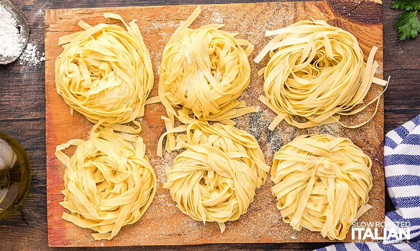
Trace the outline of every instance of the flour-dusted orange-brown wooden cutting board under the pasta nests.
<path fill-rule="evenodd" d="M 308 129 L 297 129 L 285 122 L 270 131 L 268 125 L 275 114 L 261 104 L 257 98 L 263 93 L 263 78 L 257 71 L 267 63 L 267 58 L 260 64 L 252 59 L 258 54 L 270 38 L 264 37 L 267 29 L 278 29 L 296 21 L 308 19 L 325 19 L 328 23 L 341 27 L 353 33 L 363 49 L 365 56 L 371 47 L 376 45 L 379 51 L 376 60 L 380 69 L 377 77 L 382 77 L 382 18 L 378 20 L 366 18 L 357 13 L 348 12 L 352 4 L 359 1 L 306 1 L 306 2 L 266 2 L 240 4 L 201 5 L 202 13 L 191 25 L 197 28 L 209 23 L 225 23 L 226 31 L 239 32 L 238 37 L 245 38 L 255 45 L 255 50 L 249 57 L 251 62 L 251 84 L 239 98 L 249 106 L 254 105 L 260 112 L 237 119 L 237 126 L 252 133 L 265 153 L 266 162 L 271 165 L 273 154 L 281 145 L 289 142 L 303 133 L 329 133 L 336 136 L 346 136 L 362 149 L 374 161 L 373 188 L 370 191 L 369 203 L 373 206 L 360 221 L 384 220 L 384 169 L 383 169 L 383 100 L 379 112 L 368 124 L 347 129 L 337 124 L 323 125 Z M 372 2 L 377 11 L 381 4 Z M 140 31 L 150 51 L 155 75 L 154 87 L 149 97 L 157 95 L 158 67 L 162 50 L 173 34 L 195 9 L 196 5 L 175 6 L 144 6 L 118 8 L 88 8 L 88 9 L 47 9 L 45 13 L 45 93 L 46 93 L 46 151 L 47 151 L 47 206 L 48 206 L 48 242 L 50 246 L 131 246 L 131 245 L 193 245 L 207 243 L 280 243 L 280 242 L 327 242 L 318 232 L 303 229 L 300 232 L 283 223 L 280 212 L 276 208 L 276 198 L 271 195 L 273 182 L 268 181 L 258 189 L 255 201 L 248 212 L 234 222 L 226 223 L 226 231 L 221 234 L 216 223 L 206 223 L 192 220 L 182 214 L 172 202 L 169 192 L 162 188 L 166 180 L 164 168 L 171 165 L 175 154 L 165 153 L 164 158 L 155 155 L 159 136 L 164 131 L 160 120 L 164 115 L 161 104 L 148 105 L 145 116 L 140 119 L 143 131 L 140 135 L 147 146 L 146 154 L 154 167 L 157 176 L 157 192 L 153 203 L 144 216 L 135 224 L 123 227 L 121 232 L 111 241 L 94 241 L 92 231 L 82 229 L 61 219 L 63 208 L 58 204 L 63 199 L 60 193 L 64 188 L 64 166 L 54 155 L 58 144 L 72 138 L 86 139 L 93 124 L 75 112 L 70 116 L 69 107 L 55 90 L 54 61 L 61 53 L 57 46 L 62 35 L 81 30 L 77 22 L 83 19 L 91 25 L 108 22 L 102 16 L 104 12 L 120 14 L 126 21 L 138 19 Z M 357 10 L 357 8 L 355 8 Z M 366 11 L 358 8 L 357 11 Z M 340 13 L 350 13 L 345 17 Z M 374 15 L 369 10 L 367 15 Z M 378 12 L 381 13 L 381 12 Z M 370 24 L 369 24 L 370 23 Z M 367 57 L 367 56 L 366 56 Z M 365 58 L 366 59 L 366 58 Z M 366 100 L 377 96 L 381 87 L 373 85 Z M 344 119 L 344 123 L 352 125 L 362 122 L 372 115 L 373 107 L 362 114 Z M 69 151 L 68 154 L 73 154 Z M 349 241 L 350 235 L 348 235 Z"/>

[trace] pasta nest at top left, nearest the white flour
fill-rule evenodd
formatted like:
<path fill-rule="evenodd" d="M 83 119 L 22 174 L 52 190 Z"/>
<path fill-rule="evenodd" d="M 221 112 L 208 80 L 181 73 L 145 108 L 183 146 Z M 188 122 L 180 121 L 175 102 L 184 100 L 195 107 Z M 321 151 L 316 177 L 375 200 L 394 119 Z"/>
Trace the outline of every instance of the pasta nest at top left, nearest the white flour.
<path fill-rule="evenodd" d="M 135 21 L 119 25 L 100 23 L 60 37 L 64 51 L 55 65 L 55 82 L 64 102 L 92 123 L 124 124 L 142 117 L 153 85 L 150 55 Z"/>

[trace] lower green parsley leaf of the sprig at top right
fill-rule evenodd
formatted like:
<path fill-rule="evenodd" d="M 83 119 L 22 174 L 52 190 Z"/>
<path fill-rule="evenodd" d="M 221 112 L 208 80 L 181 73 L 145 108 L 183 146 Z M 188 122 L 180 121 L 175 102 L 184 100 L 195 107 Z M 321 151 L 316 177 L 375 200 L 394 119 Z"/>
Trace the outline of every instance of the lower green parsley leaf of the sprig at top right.
<path fill-rule="evenodd" d="M 417 15 L 418 10 L 403 11 L 395 23 L 395 28 L 400 33 L 400 40 L 415 38 L 420 32 L 420 22 Z"/>

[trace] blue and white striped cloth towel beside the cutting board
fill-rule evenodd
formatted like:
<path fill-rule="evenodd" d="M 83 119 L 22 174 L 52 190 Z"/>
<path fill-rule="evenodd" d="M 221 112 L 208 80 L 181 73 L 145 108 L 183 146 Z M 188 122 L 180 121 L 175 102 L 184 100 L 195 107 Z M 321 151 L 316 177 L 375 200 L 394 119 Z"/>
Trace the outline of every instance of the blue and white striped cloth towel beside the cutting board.
<path fill-rule="evenodd" d="M 386 213 L 385 225 L 410 223 L 410 240 L 339 243 L 318 251 L 420 251 L 420 115 L 388 132 L 384 145 L 385 182 L 396 208 Z"/>

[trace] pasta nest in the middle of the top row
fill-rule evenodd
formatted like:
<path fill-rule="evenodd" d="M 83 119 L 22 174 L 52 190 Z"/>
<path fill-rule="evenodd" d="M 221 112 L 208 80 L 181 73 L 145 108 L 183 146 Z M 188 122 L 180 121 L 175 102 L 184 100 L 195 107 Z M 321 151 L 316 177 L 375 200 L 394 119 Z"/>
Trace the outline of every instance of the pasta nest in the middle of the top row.
<path fill-rule="evenodd" d="M 237 33 L 220 30 L 223 24 L 188 28 L 200 11 L 198 6 L 163 50 L 159 99 L 172 124 L 174 116 L 187 123 L 190 114 L 200 120 L 233 124 L 229 119 L 256 112 L 237 100 L 250 83 L 248 56 L 254 47 L 236 39 Z M 182 107 L 182 111 L 177 114 L 173 107 Z"/>

